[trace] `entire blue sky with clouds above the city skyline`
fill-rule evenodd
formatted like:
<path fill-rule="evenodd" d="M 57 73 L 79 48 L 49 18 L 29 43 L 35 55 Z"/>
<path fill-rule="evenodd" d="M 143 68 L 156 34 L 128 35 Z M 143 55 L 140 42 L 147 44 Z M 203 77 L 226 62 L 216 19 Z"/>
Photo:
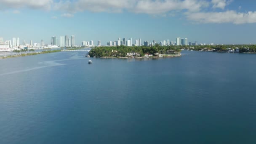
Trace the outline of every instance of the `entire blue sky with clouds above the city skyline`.
<path fill-rule="evenodd" d="M 0 0 L 0 37 L 51 43 L 75 35 L 75 44 L 118 37 L 141 41 L 256 43 L 255 0 Z"/>

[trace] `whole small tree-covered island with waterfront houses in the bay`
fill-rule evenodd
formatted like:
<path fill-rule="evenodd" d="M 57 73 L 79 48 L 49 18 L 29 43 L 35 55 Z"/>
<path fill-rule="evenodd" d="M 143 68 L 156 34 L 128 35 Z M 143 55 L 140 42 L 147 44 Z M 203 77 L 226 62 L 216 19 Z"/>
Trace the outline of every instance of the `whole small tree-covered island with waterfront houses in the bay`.
<path fill-rule="evenodd" d="M 181 49 L 172 46 L 100 46 L 91 49 L 90 57 L 98 58 L 144 58 L 181 56 Z"/>

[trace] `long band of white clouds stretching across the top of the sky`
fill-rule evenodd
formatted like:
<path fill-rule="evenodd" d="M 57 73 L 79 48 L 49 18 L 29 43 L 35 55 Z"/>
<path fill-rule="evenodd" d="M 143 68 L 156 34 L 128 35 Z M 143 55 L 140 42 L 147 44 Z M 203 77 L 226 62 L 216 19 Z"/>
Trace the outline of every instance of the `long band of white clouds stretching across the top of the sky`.
<path fill-rule="evenodd" d="M 181 14 L 196 23 L 256 23 L 256 12 L 225 10 L 233 0 L 0 0 L 0 10 L 32 8 L 59 11 L 61 17 L 77 12 L 146 13 L 152 16 Z M 220 12 L 217 12 L 217 10 Z M 53 17 L 52 17 L 53 18 Z M 53 18 L 54 19 L 54 18 Z"/>

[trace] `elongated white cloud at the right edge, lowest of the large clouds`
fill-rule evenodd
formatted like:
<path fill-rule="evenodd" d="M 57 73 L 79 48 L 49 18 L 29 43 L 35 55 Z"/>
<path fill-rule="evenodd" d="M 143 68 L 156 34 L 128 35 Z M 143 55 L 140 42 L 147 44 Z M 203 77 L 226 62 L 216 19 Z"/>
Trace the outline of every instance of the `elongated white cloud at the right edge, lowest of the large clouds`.
<path fill-rule="evenodd" d="M 187 13 L 187 19 L 198 23 L 233 23 L 246 24 L 256 23 L 256 11 L 237 13 L 236 11 Z"/>

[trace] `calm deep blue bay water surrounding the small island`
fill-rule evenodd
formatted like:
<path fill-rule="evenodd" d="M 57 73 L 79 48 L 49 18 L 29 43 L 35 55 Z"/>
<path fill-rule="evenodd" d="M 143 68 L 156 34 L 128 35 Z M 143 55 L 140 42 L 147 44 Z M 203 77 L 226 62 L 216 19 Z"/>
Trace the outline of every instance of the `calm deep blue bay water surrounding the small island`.
<path fill-rule="evenodd" d="M 255 144 L 256 55 L 182 53 L 1 59 L 0 144 Z"/>

